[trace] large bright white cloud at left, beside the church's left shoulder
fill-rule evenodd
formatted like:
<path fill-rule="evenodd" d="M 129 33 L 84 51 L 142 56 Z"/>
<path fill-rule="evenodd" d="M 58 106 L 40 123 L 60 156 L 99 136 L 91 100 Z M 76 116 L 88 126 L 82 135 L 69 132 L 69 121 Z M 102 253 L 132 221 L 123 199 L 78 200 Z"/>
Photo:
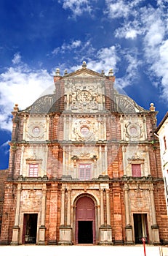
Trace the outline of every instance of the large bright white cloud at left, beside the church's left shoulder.
<path fill-rule="evenodd" d="M 15 59 L 15 57 L 14 57 Z M 20 62 L 19 62 L 20 63 Z M 41 96 L 54 91 L 47 70 L 32 70 L 21 63 L 0 74 L 0 129 L 12 130 L 11 111 L 15 103 L 24 109 Z"/>

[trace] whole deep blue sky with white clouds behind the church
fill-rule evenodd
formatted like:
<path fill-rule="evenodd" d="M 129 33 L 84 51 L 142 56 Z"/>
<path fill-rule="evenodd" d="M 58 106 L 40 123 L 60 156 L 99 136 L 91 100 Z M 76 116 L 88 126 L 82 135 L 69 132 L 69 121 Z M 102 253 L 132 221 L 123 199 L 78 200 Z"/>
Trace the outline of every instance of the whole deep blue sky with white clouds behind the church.
<path fill-rule="evenodd" d="M 82 61 L 149 109 L 158 124 L 168 104 L 168 0 L 0 1 L 0 169 L 8 167 L 15 103 L 20 109 L 54 89 L 60 68 Z"/>

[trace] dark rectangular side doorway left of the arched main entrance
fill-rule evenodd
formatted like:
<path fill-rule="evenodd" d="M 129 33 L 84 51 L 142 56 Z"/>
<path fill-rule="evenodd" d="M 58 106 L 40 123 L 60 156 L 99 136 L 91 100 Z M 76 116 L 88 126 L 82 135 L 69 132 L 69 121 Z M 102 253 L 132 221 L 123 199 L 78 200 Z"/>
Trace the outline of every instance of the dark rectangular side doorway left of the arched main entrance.
<path fill-rule="evenodd" d="M 38 214 L 24 214 L 23 217 L 23 244 L 36 244 Z"/>

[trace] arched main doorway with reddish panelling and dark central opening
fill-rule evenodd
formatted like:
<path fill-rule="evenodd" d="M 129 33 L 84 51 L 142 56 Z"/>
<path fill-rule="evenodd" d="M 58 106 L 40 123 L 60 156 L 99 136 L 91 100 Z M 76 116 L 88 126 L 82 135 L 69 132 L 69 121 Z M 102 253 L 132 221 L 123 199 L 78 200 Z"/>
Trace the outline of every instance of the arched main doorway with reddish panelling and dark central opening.
<path fill-rule="evenodd" d="M 76 244 L 95 244 L 95 203 L 87 196 L 76 203 Z"/>

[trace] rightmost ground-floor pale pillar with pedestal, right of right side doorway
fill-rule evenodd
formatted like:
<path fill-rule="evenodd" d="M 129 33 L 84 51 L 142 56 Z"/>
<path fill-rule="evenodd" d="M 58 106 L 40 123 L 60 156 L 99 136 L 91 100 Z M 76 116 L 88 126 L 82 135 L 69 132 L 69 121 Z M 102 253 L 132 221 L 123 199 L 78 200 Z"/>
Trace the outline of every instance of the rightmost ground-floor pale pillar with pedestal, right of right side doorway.
<path fill-rule="evenodd" d="M 153 244 L 160 244 L 159 239 L 159 226 L 156 224 L 156 211 L 155 211 L 155 201 L 153 195 L 153 187 L 149 189 L 150 200 L 151 200 L 151 216 L 152 216 L 152 242 Z"/>

